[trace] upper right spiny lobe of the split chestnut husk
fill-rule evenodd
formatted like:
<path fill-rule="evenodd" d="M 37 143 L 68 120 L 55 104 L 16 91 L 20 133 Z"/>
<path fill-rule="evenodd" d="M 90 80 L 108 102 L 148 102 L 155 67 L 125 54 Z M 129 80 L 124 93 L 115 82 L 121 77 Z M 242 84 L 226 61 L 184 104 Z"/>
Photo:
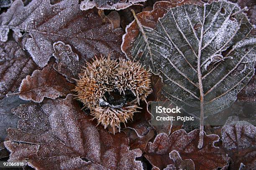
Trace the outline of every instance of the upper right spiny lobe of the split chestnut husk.
<path fill-rule="evenodd" d="M 114 86 L 120 94 L 131 90 L 139 103 L 139 98 L 146 101 L 146 97 L 152 92 L 150 76 L 139 62 L 120 60 Z"/>

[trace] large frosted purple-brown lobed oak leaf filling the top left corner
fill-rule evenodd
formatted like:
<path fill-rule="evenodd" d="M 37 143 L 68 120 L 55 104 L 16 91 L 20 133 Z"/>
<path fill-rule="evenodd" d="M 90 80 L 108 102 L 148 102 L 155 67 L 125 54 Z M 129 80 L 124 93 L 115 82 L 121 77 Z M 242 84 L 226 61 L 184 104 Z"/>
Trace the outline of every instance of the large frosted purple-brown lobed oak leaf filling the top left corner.
<path fill-rule="evenodd" d="M 79 9 L 78 0 L 63 0 L 54 5 L 50 0 L 33 0 L 23 6 L 15 0 L 10 9 L 0 15 L 1 41 L 8 39 L 9 29 L 19 37 L 28 33 L 25 47 L 40 67 L 52 56 L 54 42 L 69 44 L 83 60 L 94 55 L 120 55 L 123 31 L 113 30 L 113 25 L 102 23 L 92 11 Z"/>

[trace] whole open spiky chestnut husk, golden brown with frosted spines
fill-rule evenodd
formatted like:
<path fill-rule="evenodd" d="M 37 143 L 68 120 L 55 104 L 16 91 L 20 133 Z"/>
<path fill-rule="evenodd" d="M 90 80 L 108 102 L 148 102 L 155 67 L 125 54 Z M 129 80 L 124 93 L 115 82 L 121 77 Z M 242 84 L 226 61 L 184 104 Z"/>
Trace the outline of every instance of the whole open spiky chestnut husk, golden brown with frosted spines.
<path fill-rule="evenodd" d="M 138 62 L 120 60 L 118 63 L 116 60 L 110 60 L 110 57 L 101 57 L 91 63 L 87 62 L 87 67 L 79 74 L 80 79 L 77 80 L 75 91 L 78 100 L 90 108 L 93 119 L 97 119 L 98 124 L 104 125 L 105 128 L 112 127 L 115 132 L 115 128 L 120 130 L 120 123 L 132 120 L 133 113 L 138 112 L 140 107 L 136 103 L 139 104 L 139 99 L 146 100 L 151 93 L 149 77 L 150 73 Z M 108 96 L 111 91 L 128 98 L 133 98 L 133 93 L 135 97 L 133 101 L 117 106 L 106 102 L 108 99 L 105 95 Z M 136 98 L 137 100 L 134 100 Z M 103 100 L 108 105 L 100 105 Z"/>

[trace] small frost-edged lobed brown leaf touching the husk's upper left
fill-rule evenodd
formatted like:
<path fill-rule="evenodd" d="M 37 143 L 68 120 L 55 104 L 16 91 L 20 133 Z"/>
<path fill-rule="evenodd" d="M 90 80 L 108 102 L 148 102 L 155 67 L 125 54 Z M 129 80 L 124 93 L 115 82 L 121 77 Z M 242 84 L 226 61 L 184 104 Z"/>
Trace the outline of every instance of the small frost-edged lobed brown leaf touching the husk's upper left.
<path fill-rule="evenodd" d="M 74 79 L 79 79 L 78 74 L 80 69 L 84 66 L 84 61 L 72 51 L 70 45 L 58 41 L 53 45 L 54 57 L 57 64 L 54 64 L 54 70 L 64 75 L 69 82 L 75 82 Z"/>

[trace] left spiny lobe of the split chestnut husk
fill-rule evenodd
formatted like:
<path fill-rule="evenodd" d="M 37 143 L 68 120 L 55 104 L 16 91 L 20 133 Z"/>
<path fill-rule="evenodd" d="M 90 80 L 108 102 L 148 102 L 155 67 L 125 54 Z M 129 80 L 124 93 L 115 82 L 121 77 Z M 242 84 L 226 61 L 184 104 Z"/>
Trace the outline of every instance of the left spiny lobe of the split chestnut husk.
<path fill-rule="evenodd" d="M 118 62 L 102 56 L 96 57 L 92 63 L 87 62 L 87 67 L 82 69 L 74 91 L 77 99 L 84 103 L 85 107 L 96 107 L 99 100 L 107 91 L 112 91 Z"/>

